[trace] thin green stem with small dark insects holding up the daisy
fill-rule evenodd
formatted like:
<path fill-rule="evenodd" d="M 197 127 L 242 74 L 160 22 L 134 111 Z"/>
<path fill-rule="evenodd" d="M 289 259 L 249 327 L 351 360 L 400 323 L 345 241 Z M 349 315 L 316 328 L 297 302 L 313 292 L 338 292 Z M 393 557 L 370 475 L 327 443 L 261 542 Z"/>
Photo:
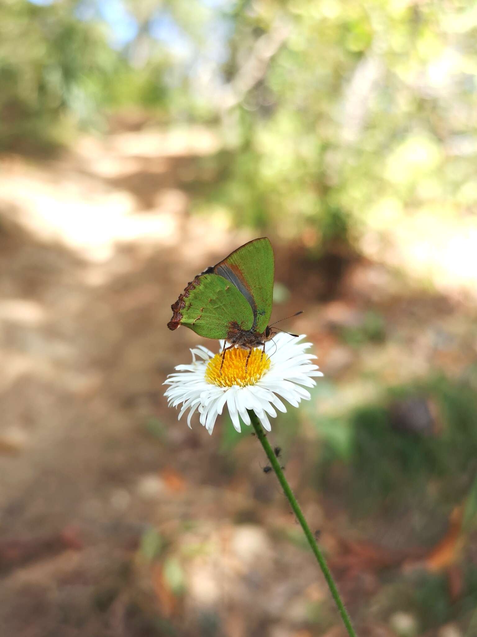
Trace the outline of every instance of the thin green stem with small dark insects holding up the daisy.
<path fill-rule="evenodd" d="M 310 531 L 310 527 L 308 526 L 307 520 L 305 520 L 305 516 L 303 515 L 303 512 L 301 511 L 300 505 L 296 501 L 296 497 L 293 495 L 293 491 L 291 490 L 290 485 L 288 484 L 287 479 L 282 471 L 282 468 L 280 467 L 280 462 L 275 457 L 275 454 L 273 453 L 273 449 L 270 446 L 270 443 L 268 442 L 268 440 L 266 440 L 265 433 L 263 431 L 261 423 L 259 422 L 255 412 L 252 412 L 252 410 L 247 410 L 247 412 L 249 413 L 253 428 L 255 429 L 255 433 L 257 434 L 257 438 L 261 442 L 261 445 L 263 449 L 265 450 L 268 460 L 270 461 L 270 464 L 273 467 L 273 471 L 275 471 L 275 473 L 277 474 L 277 478 L 279 479 L 280 485 L 282 485 L 282 489 L 284 490 L 285 496 L 287 500 L 289 501 L 290 506 L 293 509 L 293 512 L 296 515 L 296 518 L 298 519 L 298 522 L 300 522 L 301 528 L 303 529 L 303 533 L 305 533 L 305 536 L 308 540 L 308 544 L 310 545 L 317 559 L 317 562 L 320 565 L 320 568 L 322 570 L 326 583 L 328 584 L 328 588 L 331 591 L 331 595 L 333 596 L 336 606 L 338 606 L 338 610 L 340 611 L 343 624 L 345 625 L 349 636 L 356 637 L 356 633 L 354 632 L 354 629 L 351 625 L 351 620 L 349 618 L 347 610 L 342 602 L 342 599 L 340 598 L 338 589 L 336 588 L 335 580 L 333 580 L 333 576 L 331 575 L 331 572 L 329 571 L 328 565 L 326 564 L 326 561 L 322 555 L 322 552 L 318 548 L 314 534 Z"/>

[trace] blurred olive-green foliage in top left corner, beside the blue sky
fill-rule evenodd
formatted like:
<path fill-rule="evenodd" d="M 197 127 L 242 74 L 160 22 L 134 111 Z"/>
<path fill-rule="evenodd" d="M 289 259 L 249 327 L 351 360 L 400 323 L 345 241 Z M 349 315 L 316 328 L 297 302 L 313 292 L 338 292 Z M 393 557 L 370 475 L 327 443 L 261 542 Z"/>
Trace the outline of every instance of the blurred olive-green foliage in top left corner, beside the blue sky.
<path fill-rule="evenodd" d="M 76 5 L 0 4 L 0 150 L 64 143 L 78 128 L 104 131 L 112 108 L 164 105 L 167 55 L 133 68 L 109 45 L 106 26 L 79 20 Z"/>

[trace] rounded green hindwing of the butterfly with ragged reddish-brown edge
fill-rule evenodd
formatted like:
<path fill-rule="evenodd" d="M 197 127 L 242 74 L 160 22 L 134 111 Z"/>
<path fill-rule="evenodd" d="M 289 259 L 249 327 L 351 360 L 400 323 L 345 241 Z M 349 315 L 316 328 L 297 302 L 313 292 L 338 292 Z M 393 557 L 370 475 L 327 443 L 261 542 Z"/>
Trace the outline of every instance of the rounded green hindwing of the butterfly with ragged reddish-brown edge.
<path fill-rule="evenodd" d="M 169 329 L 179 325 L 190 327 L 205 338 L 226 338 L 231 322 L 251 329 L 252 308 L 235 285 L 214 273 L 198 275 L 172 305 L 174 315 Z"/>

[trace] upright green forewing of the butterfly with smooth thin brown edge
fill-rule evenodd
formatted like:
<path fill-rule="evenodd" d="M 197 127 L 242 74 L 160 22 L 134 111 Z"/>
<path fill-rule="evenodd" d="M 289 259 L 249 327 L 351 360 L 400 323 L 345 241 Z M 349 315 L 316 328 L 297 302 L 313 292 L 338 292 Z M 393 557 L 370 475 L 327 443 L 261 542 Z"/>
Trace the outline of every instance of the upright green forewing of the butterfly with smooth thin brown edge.
<path fill-rule="evenodd" d="M 270 240 L 263 237 L 249 241 L 207 269 L 210 270 L 239 290 L 252 309 L 252 327 L 257 333 L 263 333 L 270 321 L 273 302 L 275 257 Z"/>

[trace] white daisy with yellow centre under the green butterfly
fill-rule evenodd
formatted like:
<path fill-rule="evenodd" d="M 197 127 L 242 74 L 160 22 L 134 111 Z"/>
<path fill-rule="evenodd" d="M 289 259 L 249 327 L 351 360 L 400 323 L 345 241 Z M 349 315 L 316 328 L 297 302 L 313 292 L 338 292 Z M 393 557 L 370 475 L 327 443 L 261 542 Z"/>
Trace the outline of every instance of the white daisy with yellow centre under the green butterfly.
<path fill-rule="evenodd" d="M 164 384 L 170 387 L 164 396 L 169 400 L 169 406 L 177 407 L 182 403 L 179 420 L 190 410 L 189 427 L 191 417 L 198 409 L 200 424 L 209 434 L 225 404 L 237 431 L 240 432 L 240 419 L 246 425 L 250 424 L 247 409 L 253 410 L 263 427 L 270 431 L 268 416 L 276 417 L 275 407 L 286 412 L 279 396 L 298 407 L 301 399 L 310 399 L 310 392 L 301 385 L 314 387 L 314 376 L 322 376 L 318 366 L 310 362 L 316 356 L 305 354 L 312 343 L 301 343 L 303 338 L 305 334 L 298 338 L 285 333 L 275 334 L 273 341 L 265 343 L 263 357 L 261 348 L 252 350 L 246 369 L 248 350 L 227 350 L 220 370 L 221 352 L 213 354 L 199 345 L 191 349 L 191 364 L 177 365 L 177 373 L 167 377 Z M 220 345 L 222 349 L 223 341 Z"/>

